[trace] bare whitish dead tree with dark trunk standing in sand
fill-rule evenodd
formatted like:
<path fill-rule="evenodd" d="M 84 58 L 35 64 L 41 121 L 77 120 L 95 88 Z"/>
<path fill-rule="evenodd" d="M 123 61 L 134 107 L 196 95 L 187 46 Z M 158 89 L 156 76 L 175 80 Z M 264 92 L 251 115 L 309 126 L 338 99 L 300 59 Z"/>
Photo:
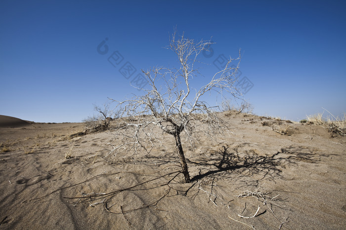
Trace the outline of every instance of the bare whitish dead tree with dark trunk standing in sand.
<path fill-rule="evenodd" d="M 199 131 L 210 137 L 225 131 L 223 122 L 203 97 L 212 91 L 222 91 L 223 94 L 228 92 L 233 97 L 241 97 L 241 93 L 234 86 L 237 81 L 240 50 L 239 56 L 236 59 L 229 57 L 224 68 L 210 77 L 209 83 L 199 89 L 190 85 L 192 78 L 201 76 L 195 64 L 198 62 L 199 54 L 208 50 L 210 44 L 210 41 L 195 42 L 184 35 L 178 36 L 176 32 L 173 33 L 168 49 L 177 55 L 179 67 L 153 67 L 147 71 L 142 70 L 149 85 L 148 89 L 141 89 L 144 94 L 117 101 L 117 106 L 122 107 L 124 111 L 123 117 L 127 118 L 123 119 L 116 130 L 115 139 L 119 142 L 113 145 L 112 156 L 119 152 L 135 154 L 138 148 L 144 148 L 149 153 L 153 147 L 158 147 L 157 145 L 164 146 L 158 141 L 163 131 L 174 137 L 185 182 L 191 181 L 183 144 L 194 146 L 197 133 L 194 129 L 197 123 Z M 230 66 L 232 61 L 237 61 L 233 67 Z"/>

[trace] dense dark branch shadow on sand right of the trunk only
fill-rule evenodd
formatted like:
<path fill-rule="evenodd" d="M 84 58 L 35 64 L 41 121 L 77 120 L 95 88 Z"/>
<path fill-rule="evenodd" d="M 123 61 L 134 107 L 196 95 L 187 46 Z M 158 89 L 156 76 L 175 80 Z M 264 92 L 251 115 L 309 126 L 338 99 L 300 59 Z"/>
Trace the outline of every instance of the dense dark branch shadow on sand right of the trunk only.
<path fill-rule="evenodd" d="M 299 162 L 317 163 L 326 154 L 319 153 L 316 149 L 304 146 L 290 146 L 282 148 L 279 152 L 260 156 L 254 150 L 241 151 L 248 145 L 244 143 L 236 147 L 222 146 L 210 156 L 188 161 L 191 167 L 198 168 L 199 172 L 192 180 L 236 179 L 256 177 L 252 181 L 258 186 L 263 179 L 274 180 L 281 178 L 282 168 L 290 167 Z M 192 165 L 191 165 L 192 164 Z"/>

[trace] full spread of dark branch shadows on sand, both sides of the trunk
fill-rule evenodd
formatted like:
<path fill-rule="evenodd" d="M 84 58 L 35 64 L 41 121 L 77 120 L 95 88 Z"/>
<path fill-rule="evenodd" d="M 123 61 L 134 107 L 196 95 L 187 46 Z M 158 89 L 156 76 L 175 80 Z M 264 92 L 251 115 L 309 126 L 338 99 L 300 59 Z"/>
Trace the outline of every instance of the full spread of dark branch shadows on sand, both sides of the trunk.
<path fill-rule="evenodd" d="M 155 164 L 155 166 L 161 167 L 158 171 L 150 173 L 120 171 L 117 173 L 100 174 L 78 184 L 57 189 L 43 197 L 32 199 L 32 201 L 41 200 L 61 190 L 72 189 L 72 187 L 90 183 L 92 180 L 100 177 L 114 177 L 116 174 L 119 174 L 119 176 L 122 175 L 122 177 L 127 178 L 127 180 L 124 180 L 122 188 L 111 189 L 110 192 L 106 193 L 82 193 L 76 197 L 69 196 L 64 198 L 71 200 L 71 204 L 73 203 L 74 206 L 82 203 L 89 206 L 102 204 L 106 211 L 113 214 L 121 214 L 126 219 L 124 214 L 144 209 L 151 210 L 166 197 L 182 195 L 194 198 L 201 192 L 201 188 L 206 185 L 211 184 L 209 186 L 213 188 L 213 183 L 217 180 L 241 181 L 241 183 L 245 183 L 244 186 L 259 186 L 263 179 L 274 180 L 282 177 L 281 172 L 285 167 L 295 166 L 300 162 L 314 164 L 318 163 L 322 157 L 329 156 L 318 152 L 316 149 L 304 146 L 290 146 L 282 148 L 279 152 L 272 155 L 260 156 L 255 150 L 245 150 L 247 147 L 250 147 L 250 143 L 243 143 L 236 147 L 222 146 L 218 151 L 206 153 L 204 156 L 196 156 L 194 158 L 195 161 L 192 161 L 191 158 L 188 160 L 188 164 L 191 171 L 195 172 L 193 173 L 195 176 L 193 176 L 192 183 L 190 184 L 178 182 L 178 177 L 181 176 L 181 169 L 178 164 L 175 164 L 176 158 L 172 153 L 160 157 L 145 157 L 142 160 L 136 160 L 136 164 L 148 166 Z M 117 164 L 130 163 L 132 161 L 121 161 Z M 146 179 L 139 179 L 144 177 Z M 127 181 L 130 181 L 130 178 L 134 179 L 134 181 L 138 179 L 138 183 L 128 185 Z M 155 193 L 153 192 L 154 190 Z M 156 195 L 153 196 L 153 194 Z M 211 191 L 210 195 L 212 194 L 213 192 Z M 120 200 L 124 200 L 124 202 L 120 202 Z M 131 200 L 131 202 L 127 202 L 127 200 Z M 138 202 L 135 202 L 135 200 Z M 131 226 L 130 221 L 128 219 L 126 221 Z"/>

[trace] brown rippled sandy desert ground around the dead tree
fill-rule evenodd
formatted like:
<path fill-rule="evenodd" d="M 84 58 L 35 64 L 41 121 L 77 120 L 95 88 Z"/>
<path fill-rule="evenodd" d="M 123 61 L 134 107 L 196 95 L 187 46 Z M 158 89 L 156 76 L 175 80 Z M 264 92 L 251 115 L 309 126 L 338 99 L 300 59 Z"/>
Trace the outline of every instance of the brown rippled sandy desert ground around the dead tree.
<path fill-rule="evenodd" d="M 235 135 L 184 149 L 191 184 L 170 135 L 168 152 L 109 162 L 112 131 L 0 116 L 0 229 L 345 229 L 346 137 L 220 116 Z"/>

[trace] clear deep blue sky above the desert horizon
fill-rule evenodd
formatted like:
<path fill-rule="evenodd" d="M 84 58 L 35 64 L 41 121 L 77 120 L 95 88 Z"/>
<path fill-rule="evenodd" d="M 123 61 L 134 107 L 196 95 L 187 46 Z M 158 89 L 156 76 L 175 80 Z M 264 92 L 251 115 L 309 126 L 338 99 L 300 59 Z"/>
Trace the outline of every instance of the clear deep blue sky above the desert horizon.
<path fill-rule="evenodd" d="M 141 68 L 176 64 L 164 49 L 176 27 L 216 42 L 212 57 L 201 56 L 208 64 L 202 83 L 217 71 L 219 55 L 233 57 L 241 48 L 239 78 L 253 85 L 244 97 L 256 114 L 298 121 L 324 107 L 340 116 L 346 112 L 345 12 L 346 1 L 1 0 L 0 114 L 81 122 L 93 104 L 138 94 L 130 82 Z M 103 40 L 108 52 L 102 55 Z M 116 51 L 123 61 L 113 66 L 108 58 Z M 129 79 L 119 71 L 127 62 L 136 69 Z"/>

